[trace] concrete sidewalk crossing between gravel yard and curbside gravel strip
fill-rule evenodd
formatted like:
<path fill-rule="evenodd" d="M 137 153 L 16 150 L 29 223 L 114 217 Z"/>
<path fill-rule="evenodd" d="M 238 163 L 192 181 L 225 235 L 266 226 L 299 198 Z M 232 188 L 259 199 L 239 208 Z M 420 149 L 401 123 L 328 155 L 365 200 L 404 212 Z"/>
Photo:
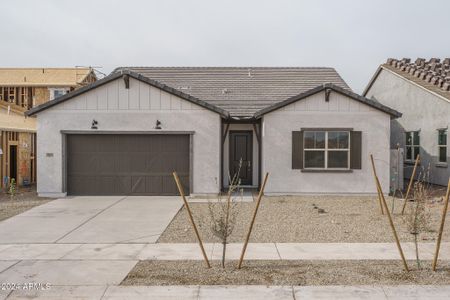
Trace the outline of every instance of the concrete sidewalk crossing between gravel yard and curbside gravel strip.
<path fill-rule="evenodd" d="M 204 244 L 210 259 L 220 259 L 219 243 Z M 431 260 L 434 243 L 421 243 L 421 259 Z M 407 259 L 414 244 L 402 243 Z M 227 258 L 238 259 L 242 244 L 228 244 Z M 397 260 L 395 243 L 250 243 L 249 260 Z M 12 244 L 0 245 L 0 261 L 21 260 L 201 260 L 198 244 Z M 450 243 L 441 244 L 439 259 L 450 260 Z M 1 265 L 0 265 L 1 266 Z M 1 269 L 0 269 L 1 272 Z"/>

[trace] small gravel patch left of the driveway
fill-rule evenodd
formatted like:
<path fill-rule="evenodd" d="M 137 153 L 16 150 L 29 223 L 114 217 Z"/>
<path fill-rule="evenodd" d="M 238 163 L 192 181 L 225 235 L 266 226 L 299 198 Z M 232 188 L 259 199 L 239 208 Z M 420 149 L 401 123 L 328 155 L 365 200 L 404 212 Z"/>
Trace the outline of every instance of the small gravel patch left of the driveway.
<path fill-rule="evenodd" d="M 34 187 L 19 188 L 14 198 L 4 191 L 0 192 L 0 221 L 21 214 L 35 206 L 51 201 L 37 196 Z"/>

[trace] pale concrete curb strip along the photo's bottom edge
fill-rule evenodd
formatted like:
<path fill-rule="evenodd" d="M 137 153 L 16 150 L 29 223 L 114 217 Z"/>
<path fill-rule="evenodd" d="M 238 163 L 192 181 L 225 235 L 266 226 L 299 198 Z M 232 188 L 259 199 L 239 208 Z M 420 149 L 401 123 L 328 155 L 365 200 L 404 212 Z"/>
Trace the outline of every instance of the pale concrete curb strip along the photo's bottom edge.
<path fill-rule="evenodd" d="M 53 286 L 3 299 L 448 299 L 450 286 Z M 0 294 L 0 299 L 1 294 Z"/>

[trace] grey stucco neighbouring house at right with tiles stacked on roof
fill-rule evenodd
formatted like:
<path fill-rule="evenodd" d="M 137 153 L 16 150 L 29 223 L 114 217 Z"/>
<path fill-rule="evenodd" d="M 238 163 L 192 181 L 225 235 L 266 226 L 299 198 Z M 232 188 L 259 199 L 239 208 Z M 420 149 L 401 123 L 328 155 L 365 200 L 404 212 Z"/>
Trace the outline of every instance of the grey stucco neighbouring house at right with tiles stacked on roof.
<path fill-rule="evenodd" d="M 391 147 L 404 148 L 406 178 L 418 154 L 429 182 L 447 185 L 450 177 L 450 58 L 388 59 L 363 95 L 403 113 L 392 121 Z M 419 172 L 418 172 L 419 173 Z M 428 175 L 427 175 L 428 177 Z"/>

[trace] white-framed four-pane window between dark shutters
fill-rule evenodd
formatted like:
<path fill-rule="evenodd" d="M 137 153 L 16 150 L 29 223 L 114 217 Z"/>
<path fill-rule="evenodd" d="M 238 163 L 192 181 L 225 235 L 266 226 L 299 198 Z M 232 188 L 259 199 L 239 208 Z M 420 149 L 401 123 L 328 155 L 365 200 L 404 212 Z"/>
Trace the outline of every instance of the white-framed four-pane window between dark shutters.
<path fill-rule="evenodd" d="M 305 169 L 350 169 L 349 131 L 305 131 L 303 145 Z"/>

